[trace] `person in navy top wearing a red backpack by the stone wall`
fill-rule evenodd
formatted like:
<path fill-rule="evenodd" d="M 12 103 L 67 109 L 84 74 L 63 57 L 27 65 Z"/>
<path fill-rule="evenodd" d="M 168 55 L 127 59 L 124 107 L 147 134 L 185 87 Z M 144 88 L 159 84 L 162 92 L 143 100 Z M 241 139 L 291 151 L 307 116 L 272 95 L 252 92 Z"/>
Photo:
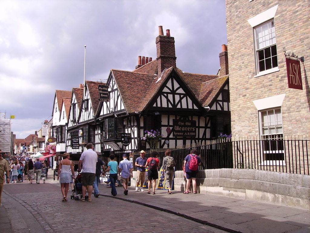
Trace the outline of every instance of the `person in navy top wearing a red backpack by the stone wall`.
<path fill-rule="evenodd" d="M 189 190 L 191 180 L 193 181 L 193 194 L 197 194 L 196 176 L 198 173 L 198 165 L 201 164 L 201 159 L 197 154 L 197 149 L 192 149 L 191 153 L 188 154 L 184 159 L 184 167 L 186 172 L 186 188 L 184 194 L 191 193 Z"/>

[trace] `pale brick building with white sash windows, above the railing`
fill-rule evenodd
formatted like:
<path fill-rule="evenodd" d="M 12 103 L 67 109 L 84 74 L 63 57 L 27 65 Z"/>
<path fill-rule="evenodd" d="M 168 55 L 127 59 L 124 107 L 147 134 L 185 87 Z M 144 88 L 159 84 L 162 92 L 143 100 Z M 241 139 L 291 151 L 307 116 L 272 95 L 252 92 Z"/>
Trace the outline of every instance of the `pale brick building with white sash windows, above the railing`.
<path fill-rule="evenodd" d="M 310 132 L 310 1 L 227 0 L 226 21 L 233 137 L 305 138 Z M 288 64 L 288 78 L 285 54 L 293 52 L 304 62 Z M 289 62 L 299 58 L 292 55 Z M 289 88 L 295 81 L 298 89 Z M 279 153 L 285 148 L 280 150 L 270 149 L 264 160 L 284 160 Z"/>

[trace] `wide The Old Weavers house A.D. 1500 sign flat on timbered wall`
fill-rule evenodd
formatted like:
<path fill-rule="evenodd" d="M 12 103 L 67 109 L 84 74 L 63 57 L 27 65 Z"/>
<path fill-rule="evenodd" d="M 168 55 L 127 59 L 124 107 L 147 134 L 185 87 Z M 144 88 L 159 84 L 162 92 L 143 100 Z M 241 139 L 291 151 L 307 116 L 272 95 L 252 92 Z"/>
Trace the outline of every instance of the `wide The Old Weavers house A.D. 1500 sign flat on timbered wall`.
<path fill-rule="evenodd" d="M 196 121 L 173 120 L 173 136 L 196 137 Z"/>

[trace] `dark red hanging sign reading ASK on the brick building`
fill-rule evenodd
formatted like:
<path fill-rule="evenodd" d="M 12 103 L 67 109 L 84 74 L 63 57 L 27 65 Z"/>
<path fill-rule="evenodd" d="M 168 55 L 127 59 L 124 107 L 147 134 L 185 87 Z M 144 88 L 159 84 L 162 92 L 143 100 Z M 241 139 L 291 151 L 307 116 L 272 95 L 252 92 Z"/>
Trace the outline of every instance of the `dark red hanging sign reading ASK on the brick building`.
<path fill-rule="evenodd" d="M 300 61 L 288 57 L 286 57 L 285 60 L 289 88 L 302 90 L 303 84 L 301 80 Z"/>

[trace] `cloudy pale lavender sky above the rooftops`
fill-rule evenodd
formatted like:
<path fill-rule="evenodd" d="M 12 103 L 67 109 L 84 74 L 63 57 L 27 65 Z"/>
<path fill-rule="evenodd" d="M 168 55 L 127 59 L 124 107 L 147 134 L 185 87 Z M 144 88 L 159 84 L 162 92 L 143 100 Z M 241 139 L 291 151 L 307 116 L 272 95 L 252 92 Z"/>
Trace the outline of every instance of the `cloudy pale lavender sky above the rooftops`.
<path fill-rule="evenodd" d="M 50 120 L 55 90 L 133 71 L 138 56 L 156 59 L 158 26 L 175 38 L 176 65 L 216 75 L 227 44 L 225 0 L 2 0 L 0 112 L 22 139 Z"/>

